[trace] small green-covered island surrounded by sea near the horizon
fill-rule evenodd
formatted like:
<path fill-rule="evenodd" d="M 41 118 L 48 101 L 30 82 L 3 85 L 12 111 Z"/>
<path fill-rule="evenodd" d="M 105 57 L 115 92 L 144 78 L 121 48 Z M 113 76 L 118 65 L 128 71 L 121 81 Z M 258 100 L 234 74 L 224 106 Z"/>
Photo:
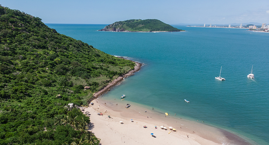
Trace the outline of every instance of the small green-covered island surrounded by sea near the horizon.
<path fill-rule="evenodd" d="M 115 31 L 115 32 L 179 32 L 185 31 L 165 24 L 157 19 L 132 19 L 126 21 L 118 21 L 105 26 L 98 31 Z"/>

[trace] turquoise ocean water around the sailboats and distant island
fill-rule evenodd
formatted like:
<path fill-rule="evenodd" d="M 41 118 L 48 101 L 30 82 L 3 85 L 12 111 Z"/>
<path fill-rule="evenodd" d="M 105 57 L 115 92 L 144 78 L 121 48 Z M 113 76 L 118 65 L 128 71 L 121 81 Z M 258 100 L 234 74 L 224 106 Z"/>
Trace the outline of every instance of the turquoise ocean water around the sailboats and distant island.
<path fill-rule="evenodd" d="M 130 104 L 203 120 L 251 144 L 269 145 L 269 79 L 264 78 L 269 74 L 269 33 L 186 26 L 174 26 L 186 32 L 103 32 L 97 30 L 105 24 L 46 25 L 144 64 L 103 99 L 125 94 Z M 255 78 L 248 79 L 252 65 Z M 220 69 L 225 81 L 215 79 Z"/>

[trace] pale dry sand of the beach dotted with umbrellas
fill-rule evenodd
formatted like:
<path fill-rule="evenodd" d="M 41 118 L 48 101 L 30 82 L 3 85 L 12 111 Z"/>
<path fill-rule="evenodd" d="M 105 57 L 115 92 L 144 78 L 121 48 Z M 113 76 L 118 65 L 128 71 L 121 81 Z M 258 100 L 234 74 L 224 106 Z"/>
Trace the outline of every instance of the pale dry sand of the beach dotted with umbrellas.
<path fill-rule="evenodd" d="M 100 138 L 100 143 L 107 144 L 182 144 L 182 145 L 220 145 L 213 141 L 206 140 L 195 133 L 186 133 L 180 130 L 169 133 L 169 126 L 163 122 L 153 119 L 143 120 L 144 116 L 135 116 L 134 118 L 126 118 L 121 115 L 124 112 L 116 112 L 104 104 L 98 104 L 97 100 L 93 100 L 94 105 L 85 108 L 83 112 L 90 112 L 91 125 L 89 130 L 92 131 L 97 138 Z M 132 106 L 131 106 L 132 107 Z M 125 109 L 125 108 L 123 108 Z M 107 112 L 106 112 L 107 111 Z M 97 115 L 103 113 L 103 116 Z M 126 113 L 126 112 L 125 112 Z M 108 115 L 112 118 L 108 118 Z M 129 116 L 132 116 L 130 114 Z M 140 119 L 137 119 L 140 118 Z M 131 121 L 134 119 L 134 122 Z M 123 121 L 123 124 L 120 124 Z M 163 124 L 168 130 L 162 130 L 157 124 Z M 143 128 L 146 125 L 147 128 Z M 158 128 L 155 129 L 154 126 Z M 151 136 L 154 133 L 156 138 Z M 189 137 L 187 137 L 187 135 Z"/>

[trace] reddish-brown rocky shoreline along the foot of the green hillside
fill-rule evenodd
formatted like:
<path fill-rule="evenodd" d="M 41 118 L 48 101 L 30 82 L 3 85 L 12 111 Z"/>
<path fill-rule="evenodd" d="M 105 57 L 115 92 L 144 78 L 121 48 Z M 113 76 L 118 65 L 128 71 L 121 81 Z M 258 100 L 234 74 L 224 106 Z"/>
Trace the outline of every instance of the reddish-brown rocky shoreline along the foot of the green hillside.
<path fill-rule="evenodd" d="M 119 58 L 122 58 L 122 59 L 125 59 L 123 57 L 119 57 Z M 134 62 L 134 61 L 132 61 Z M 99 96 L 101 96 L 103 93 L 109 91 L 109 89 L 115 85 L 117 85 L 119 82 L 121 82 L 125 77 L 129 77 L 129 76 L 132 76 L 134 75 L 133 73 L 137 72 L 140 70 L 142 64 L 141 63 L 137 63 L 137 62 L 134 62 L 136 65 L 135 65 L 135 69 L 129 71 L 127 74 L 124 74 L 123 76 L 120 76 L 118 77 L 117 79 L 114 79 L 112 82 L 110 82 L 107 86 L 105 86 L 104 88 L 102 88 L 100 91 L 98 91 L 97 93 L 94 93 L 93 94 L 93 98 L 90 100 L 90 102 L 96 98 L 98 98 Z"/>

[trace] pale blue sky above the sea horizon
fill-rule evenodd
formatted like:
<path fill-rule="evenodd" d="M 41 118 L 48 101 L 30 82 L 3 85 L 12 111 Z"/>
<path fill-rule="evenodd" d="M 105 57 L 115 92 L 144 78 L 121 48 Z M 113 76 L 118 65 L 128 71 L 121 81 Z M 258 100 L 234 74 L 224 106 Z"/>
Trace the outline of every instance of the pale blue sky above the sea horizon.
<path fill-rule="evenodd" d="M 129 19 L 269 24 L 268 0 L 1 0 L 0 4 L 56 24 L 112 24 Z"/>

